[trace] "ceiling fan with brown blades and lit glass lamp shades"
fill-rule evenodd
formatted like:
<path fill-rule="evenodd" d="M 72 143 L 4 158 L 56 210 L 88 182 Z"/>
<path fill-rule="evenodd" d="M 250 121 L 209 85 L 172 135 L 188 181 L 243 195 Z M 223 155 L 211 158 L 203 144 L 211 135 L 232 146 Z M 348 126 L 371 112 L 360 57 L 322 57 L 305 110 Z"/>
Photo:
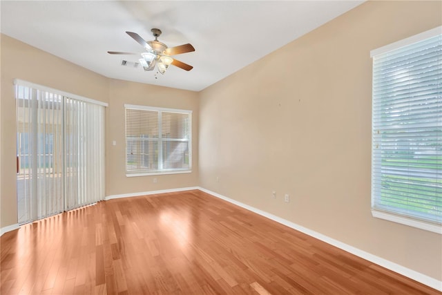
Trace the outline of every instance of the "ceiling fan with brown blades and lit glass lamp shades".
<path fill-rule="evenodd" d="M 131 36 L 135 41 L 137 41 L 146 50 L 145 53 L 141 53 L 142 58 L 140 59 L 140 64 L 143 66 L 145 71 L 153 70 L 155 65 L 157 65 L 158 72 L 161 74 L 166 73 L 166 70 L 170 65 L 177 66 L 183 70 L 191 70 L 193 66 L 185 64 L 182 61 L 174 59 L 173 55 L 180 55 L 182 53 L 191 53 L 195 51 L 195 48 L 191 44 L 183 44 L 180 46 L 175 46 L 168 48 L 166 44 L 158 41 L 158 37 L 161 35 L 161 30 L 153 28 L 151 30 L 155 40 L 145 41 L 136 32 L 126 32 L 127 35 Z M 108 51 L 111 55 L 139 55 L 140 53 L 123 53 L 119 51 Z"/>

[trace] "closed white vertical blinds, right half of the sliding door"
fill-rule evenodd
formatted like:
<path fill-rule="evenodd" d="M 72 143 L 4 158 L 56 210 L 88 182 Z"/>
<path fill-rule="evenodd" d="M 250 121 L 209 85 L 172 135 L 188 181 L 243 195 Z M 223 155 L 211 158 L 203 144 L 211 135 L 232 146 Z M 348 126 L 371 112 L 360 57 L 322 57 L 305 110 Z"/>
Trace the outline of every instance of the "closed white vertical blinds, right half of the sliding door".
<path fill-rule="evenodd" d="M 104 198 L 104 107 L 65 99 L 65 198 L 70 210 Z"/>

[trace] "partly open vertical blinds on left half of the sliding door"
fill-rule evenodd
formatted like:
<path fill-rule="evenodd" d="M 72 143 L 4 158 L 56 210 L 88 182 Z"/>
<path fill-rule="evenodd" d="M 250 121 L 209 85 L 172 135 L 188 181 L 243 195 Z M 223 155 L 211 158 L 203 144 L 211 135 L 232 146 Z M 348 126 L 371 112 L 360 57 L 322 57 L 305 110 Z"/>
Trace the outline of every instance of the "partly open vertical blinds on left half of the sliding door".
<path fill-rule="evenodd" d="M 63 97 L 17 86 L 19 224 L 64 211 Z"/>

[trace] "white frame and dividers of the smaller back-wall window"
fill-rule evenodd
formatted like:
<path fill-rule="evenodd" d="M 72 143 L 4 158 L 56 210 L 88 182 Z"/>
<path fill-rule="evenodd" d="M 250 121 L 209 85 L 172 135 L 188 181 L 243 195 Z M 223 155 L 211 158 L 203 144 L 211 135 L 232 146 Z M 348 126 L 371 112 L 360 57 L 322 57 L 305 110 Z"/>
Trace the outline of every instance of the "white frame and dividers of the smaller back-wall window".
<path fill-rule="evenodd" d="M 182 168 L 182 169 L 160 169 L 157 168 L 155 171 L 135 171 L 130 172 L 128 171 L 128 135 L 127 135 L 127 110 L 136 110 L 136 111 L 150 111 L 150 112 L 156 112 L 157 113 L 157 119 L 159 120 L 159 126 L 158 126 L 158 138 L 149 140 L 146 139 L 146 142 L 152 141 L 157 142 L 158 149 L 159 149 L 159 155 L 157 158 L 157 164 L 158 166 L 162 166 L 162 144 L 164 142 L 171 142 L 171 141 L 180 141 L 182 139 L 178 138 L 166 138 L 162 137 L 162 129 L 161 129 L 161 120 L 162 120 L 162 113 L 180 113 L 180 114 L 186 114 L 189 115 L 189 137 L 187 140 L 182 140 L 185 142 L 188 142 L 188 150 L 189 150 L 189 168 Z M 134 105 L 134 104 L 124 104 L 124 139 L 125 139 L 125 171 L 126 171 L 126 177 L 138 177 L 138 176 L 150 176 L 150 175 L 169 175 L 169 174 L 182 174 L 182 173 L 191 173 L 192 172 L 192 114 L 193 111 L 191 110 L 184 110 L 184 109 L 178 109 L 178 108 L 160 108 L 155 106 L 140 106 L 140 105 Z M 144 141 L 144 140 L 143 140 Z M 143 144 L 144 146 L 144 144 Z M 160 165 L 161 164 L 161 165 Z"/>

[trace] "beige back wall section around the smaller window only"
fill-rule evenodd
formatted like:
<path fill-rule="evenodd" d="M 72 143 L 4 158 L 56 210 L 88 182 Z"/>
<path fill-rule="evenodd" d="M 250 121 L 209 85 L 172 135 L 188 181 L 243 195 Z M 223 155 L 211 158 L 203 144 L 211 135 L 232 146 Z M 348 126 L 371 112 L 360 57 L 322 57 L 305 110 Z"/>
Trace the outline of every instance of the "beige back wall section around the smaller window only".
<path fill-rule="evenodd" d="M 124 104 L 193 111 L 192 173 L 126 177 Z M 110 79 L 109 108 L 106 113 L 106 137 L 109 146 L 106 162 L 107 196 L 198 186 L 198 105 L 198 93 L 193 91 Z M 110 145 L 113 140 L 117 145 Z M 153 178 L 157 179 L 156 183 Z"/>

